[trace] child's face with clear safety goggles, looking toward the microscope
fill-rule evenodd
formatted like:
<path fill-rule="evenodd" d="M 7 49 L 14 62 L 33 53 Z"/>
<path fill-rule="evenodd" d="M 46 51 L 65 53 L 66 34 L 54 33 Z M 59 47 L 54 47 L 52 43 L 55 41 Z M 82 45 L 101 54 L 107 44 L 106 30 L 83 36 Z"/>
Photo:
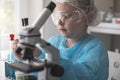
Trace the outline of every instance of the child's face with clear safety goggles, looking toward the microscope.
<path fill-rule="evenodd" d="M 53 17 L 55 16 L 57 16 L 57 29 L 64 37 L 76 38 L 86 32 L 87 22 L 80 10 L 67 4 L 57 3 L 53 12 Z"/>

